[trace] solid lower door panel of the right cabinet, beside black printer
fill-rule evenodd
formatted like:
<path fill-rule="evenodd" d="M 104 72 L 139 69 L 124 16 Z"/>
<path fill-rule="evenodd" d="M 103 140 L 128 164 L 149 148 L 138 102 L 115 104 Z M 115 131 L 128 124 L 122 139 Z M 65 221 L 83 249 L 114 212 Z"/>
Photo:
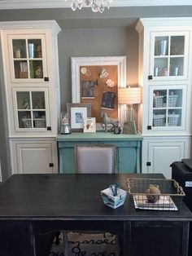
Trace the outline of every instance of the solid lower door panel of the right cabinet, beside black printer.
<path fill-rule="evenodd" d="M 149 143 L 148 144 L 150 173 L 161 173 L 167 179 L 171 179 L 173 161 L 181 161 L 184 158 L 184 143 Z"/>

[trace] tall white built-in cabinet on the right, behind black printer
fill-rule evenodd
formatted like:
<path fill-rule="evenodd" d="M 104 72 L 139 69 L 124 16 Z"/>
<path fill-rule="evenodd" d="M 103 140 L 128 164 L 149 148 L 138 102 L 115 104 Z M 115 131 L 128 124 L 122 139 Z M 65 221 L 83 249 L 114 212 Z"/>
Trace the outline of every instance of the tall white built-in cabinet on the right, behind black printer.
<path fill-rule="evenodd" d="M 142 172 L 171 178 L 172 162 L 190 157 L 192 19 L 146 18 L 136 29 Z"/>

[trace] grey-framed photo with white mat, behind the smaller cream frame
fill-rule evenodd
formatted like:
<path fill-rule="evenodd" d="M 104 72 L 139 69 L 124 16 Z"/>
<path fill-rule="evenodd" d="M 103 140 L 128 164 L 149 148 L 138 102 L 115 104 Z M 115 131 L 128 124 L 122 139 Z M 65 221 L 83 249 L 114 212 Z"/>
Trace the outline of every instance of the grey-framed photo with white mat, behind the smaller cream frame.
<path fill-rule="evenodd" d="M 68 121 L 72 131 L 83 131 L 84 120 L 91 117 L 91 104 L 67 104 Z"/>

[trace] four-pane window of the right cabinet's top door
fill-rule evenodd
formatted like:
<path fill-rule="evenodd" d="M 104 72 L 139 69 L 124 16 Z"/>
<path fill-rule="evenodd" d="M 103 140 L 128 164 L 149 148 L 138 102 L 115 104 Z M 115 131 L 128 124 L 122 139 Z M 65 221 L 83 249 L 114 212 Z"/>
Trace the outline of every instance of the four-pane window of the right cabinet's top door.
<path fill-rule="evenodd" d="M 188 33 L 152 33 L 151 75 L 153 79 L 186 78 Z"/>

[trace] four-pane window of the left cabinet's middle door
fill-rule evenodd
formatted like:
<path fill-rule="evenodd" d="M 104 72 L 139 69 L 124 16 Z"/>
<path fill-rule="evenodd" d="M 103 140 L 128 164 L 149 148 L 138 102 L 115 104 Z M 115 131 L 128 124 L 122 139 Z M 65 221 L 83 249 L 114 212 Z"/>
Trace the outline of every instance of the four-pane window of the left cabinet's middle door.
<path fill-rule="evenodd" d="M 12 90 L 15 130 L 47 130 L 47 126 L 50 126 L 47 90 L 16 88 Z"/>

